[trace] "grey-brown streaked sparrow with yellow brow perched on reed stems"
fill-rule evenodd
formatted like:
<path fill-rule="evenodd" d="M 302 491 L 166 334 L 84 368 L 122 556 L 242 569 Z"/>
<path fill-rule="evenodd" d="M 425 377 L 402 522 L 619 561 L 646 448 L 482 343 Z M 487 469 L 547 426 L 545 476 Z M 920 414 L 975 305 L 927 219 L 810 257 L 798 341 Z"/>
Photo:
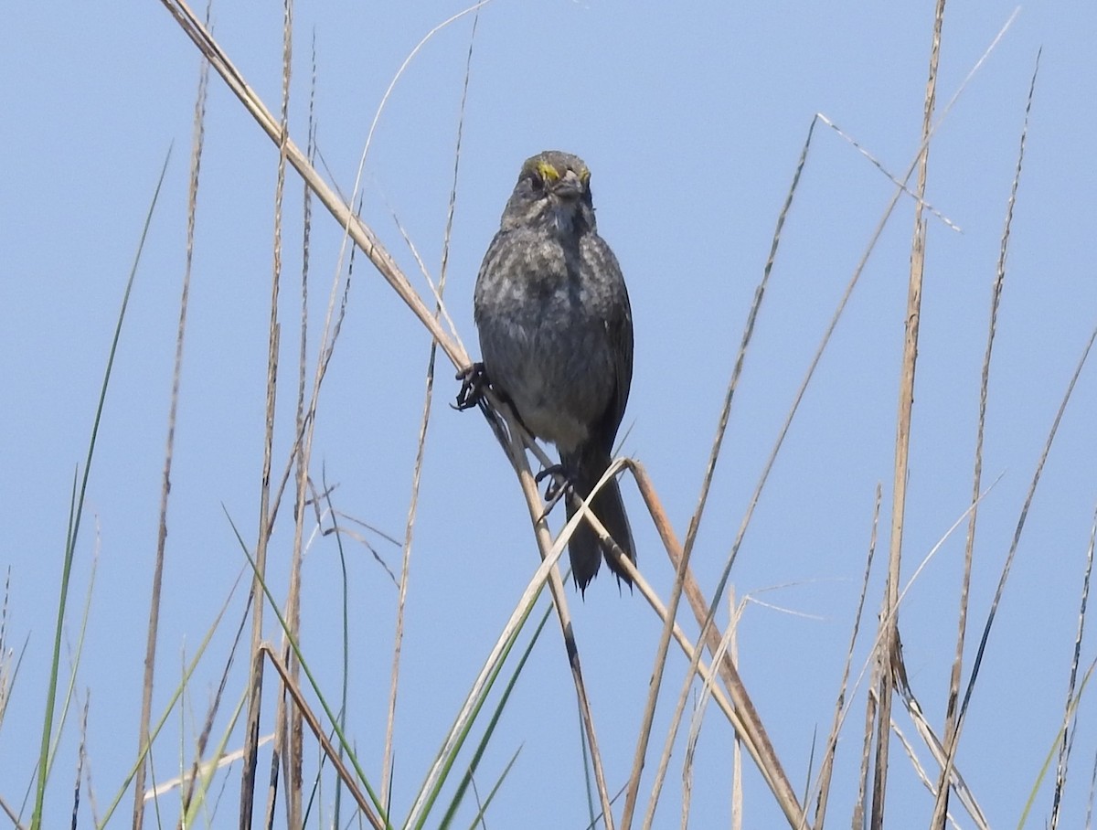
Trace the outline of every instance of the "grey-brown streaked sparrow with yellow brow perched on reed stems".
<path fill-rule="evenodd" d="M 558 470 L 588 498 L 610 465 L 629 402 L 633 330 L 624 275 L 598 235 L 590 170 L 578 156 L 545 150 L 522 164 L 476 277 L 473 318 L 487 382 L 532 435 L 555 444 Z M 572 500 L 566 509 L 570 519 Z M 635 564 L 615 478 L 590 509 Z M 576 527 L 568 554 L 585 594 L 603 558 L 588 522 Z M 631 588 L 614 557 L 606 560 Z"/>

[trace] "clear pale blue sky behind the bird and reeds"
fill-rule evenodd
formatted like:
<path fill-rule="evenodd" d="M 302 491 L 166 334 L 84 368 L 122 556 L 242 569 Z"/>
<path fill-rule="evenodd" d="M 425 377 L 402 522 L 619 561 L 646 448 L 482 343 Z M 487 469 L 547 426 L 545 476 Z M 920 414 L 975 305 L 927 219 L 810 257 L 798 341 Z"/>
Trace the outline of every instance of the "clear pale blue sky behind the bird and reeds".
<path fill-rule="evenodd" d="M 295 9 L 291 130 L 304 144 L 315 36 L 318 144 L 343 192 L 353 186 L 370 125 L 397 68 L 431 27 L 462 8 L 423 2 Z M 36 757 L 27 748 L 36 746 L 41 726 L 73 469 L 86 453 L 145 213 L 173 146 L 122 333 L 75 571 L 75 595 L 82 601 L 97 562 L 77 686 L 91 690 L 88 744 L 100 801 L 118 786 L 136 744 L 199 58 L 160 3 L 128 2 L 116 10 L 112 18 L 81 3 L 18 4 L 0 34 L 0 147 L 8 160 L 0 187 L 0 565 L 11 572 L 9 643 L 18 648 L 29 638 L 0 729 L 0 795 L 14 804 Z M 948 8 L 939 102 L 960 88 L 1014 10 L 995 2 Z M 226 52 L 276 109 L 281 9 L 227 3 L 215 7 L 214 21 Z M 905 171 L 919 144 L 931 23 L 929 3 L 496 0 L 480 12 L 450 245 L 450 314 L 476 351 L 473 282 L 522 160 L 546 148 L 583 156 L 592 171 L 599 228 L 621 261 L 635 319 L 623 450 L 646 465 L 679 534 L 695 505 L 743 325 L 812 118 L 825 114 L 886 169 Z M 907 576 L 968 507 L 991 285 L 1026 96 L 1042 48 L 991 373 L 984 484 L 1000 480 L 980 508 L 973 626 L 985 618 L 1052 419 L 1097 322 L 1097 216 L 1089 197 L 1095 24 L 1097 12 L 1087 4 L 1021 9 L 937 129 L 930 150 L 927 200 L 962 232 L 929 221 Z M 471 33 L 470 15 L 419 53 L 377 121 L 364 164 L 363 217 L 423 292 L 393 215 L 437 276 Z M 273 146 L 212 78 L 168 518 L 158 707 L 247 567 L 226 512 L 253 543 L 275 164 Z M 279 470 L 293 439 L 301 193 L 291 174 Z M 892 194 L 893 185 L 850 145 L 816 128 L 694 555 L 706 589 Z M 748 606 L 740 661 L 798 788 L 808 774 L 813 734 L 825 734 L 830 721 L 878 481 L 886 526 L 912 230 L 913 204 L 903 198 L 812 380 L 732 572 L 738 596 L 780 606 Z M 310 365 L 340 245 L 337 224 L 316 209 Z M 312 475 L 338 484 L 336 503 L 346 513 L 397 537 L 411 492 L 428 348 L 421 327 L 359 258 L 320 399 Z M 408 594 L 397 805 L 410 798 L 536 564 L 513 477 L 483 420 L 449 408 L 456 391 L 450 377 L 449 366 L 440 364 Z M 1017 822 L 1062 718 L 1097 502 L 1095 406 L 1097 380 L 1087 366 L 1044 468 L 972 702 L 959 763 L 992 826 Z M 640 565 L 665 593 L 671 575 L 657 536 L 635 488 L 623 489 Z M 275 592 L 284 592 L 290 513 L 287 503 L 273 541 Z M 399 550 L 371 539 L 397 569 Z M 961 533 L 941 547 L 901 613 L 912 684 L 938 728 L 962 555 Z M 870 585 L 869 621 L 879 605 L 881 562 Z M 351 543 L 348 565 L 353 734 L 367 772 L 376 776 L 396 594 L 363 547 Z M 331 689 L 340 661 L 340 575 L 330 537 L 316 542 L 305 560 L 303 639 Z M 606 578 L 585 601 L 569 599 L 614 788 L 631 762 L 658 624 L 637 595 L 619 595 Z M 234 622 L 216 634 L 192 681 L 188 718 L 201 719 L 242 601 L 241 589 L 230 603 Z M 867 653 L 864 641 L 855 669 Z M 1087 664 L 1094 649 L 1084 643 L 1082 653 Z M 241 662 L 234 670 L 236 689 L 242 687 Z M 660 728 L 683 669 L 675 655 L 655 747 L 661 746 Z M 839 744 L 832 822 L 848 820 L 856 793 L 863 700 L 862 689 Z M 1084 815 L 1089 758 L 1097 750 L 1087 704 L 1084 698 L 1079 710 L 1067 825 Z M 709 718 L 698 750 L 695 827 L 724 825 L 730 812 L 731 730 Z M 897 719 L 913 731 L 905 715 Z M 70 809 L 73 731 L 70 726 L 59 760 L 66 771 L 47 799 L 55 820 Z M 180 734 L 193 731 L 193 724 L 178 718 L 169 727 L 159 777 L 177 774 Z M 581 827 L 586 801 L 574 692 L 559 635 L 551 627 L 484 774 L 501 770 L 519 747 L 495 807 L 496 826 L 520 820 L 524 827 Z M 912 826 L 923 826 L 931 800 L 898 749 L 892 761 L 891 815 L 900 826 L 908 816 L 918 817 Z M 658 826 L 678 820 L 680 764 L 679 748 Z M 229 782 L 214 826 L 234 820 L 236 778 Z M 779 814 L 753 771 L 746 792 L 746 826 L 777 826 Z M 1030 821 L 1047 817 L 1049 805 L 1045 784 Z M 394 812 L 402 816 L 404 808 Z M 81 826 L 89 825 L 86 815 Z"/>

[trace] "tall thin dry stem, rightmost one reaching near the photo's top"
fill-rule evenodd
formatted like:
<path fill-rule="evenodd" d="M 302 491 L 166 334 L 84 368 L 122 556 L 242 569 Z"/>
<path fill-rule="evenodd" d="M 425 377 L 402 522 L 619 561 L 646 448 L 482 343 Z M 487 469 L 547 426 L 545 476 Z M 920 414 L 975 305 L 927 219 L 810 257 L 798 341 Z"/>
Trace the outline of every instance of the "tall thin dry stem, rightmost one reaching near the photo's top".
<path fill-rule="evenodd" d="M 1040 71 L 1040 53 L 1037 53 L 1036 66 L 1032 69 L 1032 79 L 1029 82 L 1028 101 L 1025 105 L 1025 121 L 1021 125 L 1020 147 L 1017 151 L 1017 167 L 1014 171 L 1013 184 L 1009 189 L 1009 200 L 1006 203 L 1005 227 L 1002 232 L 1002 242 L 998 249 L 998 263 L 995 273 L 994 285 L 991 289 L 991 319 L 987 325 L 986 351 L 983 355 L 983 369 L 980 378 L 979 394 L 979 420 L 975 428 L 975 461 L 973 478 L 973 499 L 979 493 L 980 482 L 983 471 L 983 433 L 986 421 L 987 389 L 991 382 L 991 356 L 994 351 L 994 336 L 997 331 L 998 308 L 1002 304 L 1002 291 L 1006 280 L 1006 254 L 1009 251 L 1009 231 L 1013 226 L 1014 205 L 1017 203 L 1017 190 L 1020 184 L 1021 169 L 1025 161 L 1025 141 L 1028 136 L 1029 115 L 1032 112 L 1032 99 L 1036 93 L 1037 73 Z M 949 695 L 946 702 L 945 718 L 945 744 L 952 748 L 954 744 L 954 732 L 957 728 L 957 702 L 960 696 L 960 676 L 963 668 L 963 649 L 968 632 L 968 596 L 971 587 L 971 567 L 975 547 L 975 511 L 972 511 L 971 520 L 968 523 L 968 538 L 964 544 L 964 569 L 960 584 L 960 612 L 958 618 L 957 650 L 952 660 L 952 674 L 949 679 Z M 952 765 L 954 750 L 946 755 L 946 763 L 941 768 L 938 777 L 937 801 L 934 805 L 934 818 L 930 821 L 931 828 L 942 826 L 941 814 L 948 806 L 949 793 L 943 783 L 949 777 L 949 768 Z"/>

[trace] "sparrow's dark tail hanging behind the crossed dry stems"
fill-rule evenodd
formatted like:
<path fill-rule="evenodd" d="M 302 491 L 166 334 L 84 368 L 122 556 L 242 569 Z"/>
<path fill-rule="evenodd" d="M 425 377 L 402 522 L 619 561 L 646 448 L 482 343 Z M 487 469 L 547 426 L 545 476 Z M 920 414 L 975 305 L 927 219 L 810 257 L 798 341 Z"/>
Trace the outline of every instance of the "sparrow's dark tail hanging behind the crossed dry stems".
<path fill-rule="evenodd" d="M 572 476 L 576 494 L 584 499 L 590 494 L 595 485 L 598 484 L 598 479 L 610 466 L 609 456 L 600 453 L 590 455 L 580 452 L 575 455 L 565 455 L 561 457 L 561 463 Z M 621 500 L 621 488 L 618 487 L 615 478 L 607 481 L 606 486 L 598 491 L 598 494 L 590 502 L 590 509 L 606 525 L 606 530 L 609 531 L 610 536 L 613 537 L 625 556 L 635 562 L 636 546 L 632 541 L 632 528 L 629 526 L 629 516 L 624 512 L 624 502 Z M 568 500 L 567 518 L 570 519 L 575 512 L 576 508 Z M 598 568 L 602 562 L 602 545 L 598 541 L 598 534 L 595 533 L 589 523 L 581 522 L 575 528 L 568 543 L 568 554 L 572 557 L 572 576 L 575 578 L 575 584 L 579 587 L 580 591 L 585 591 L 590 580 L 598 573 Z M 618 580 L 631 588 L 632 580 L 629 575 L 618 566 L 608 550 L 606 552 L 606 561 Z"/>

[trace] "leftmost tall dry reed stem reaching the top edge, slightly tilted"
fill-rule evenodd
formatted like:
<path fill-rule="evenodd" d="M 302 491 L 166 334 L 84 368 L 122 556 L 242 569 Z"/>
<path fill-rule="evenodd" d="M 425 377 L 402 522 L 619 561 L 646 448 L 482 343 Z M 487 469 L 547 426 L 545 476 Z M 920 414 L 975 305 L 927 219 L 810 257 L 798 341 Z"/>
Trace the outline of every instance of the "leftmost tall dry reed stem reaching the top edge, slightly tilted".
<path fill-rule="evenodd" d="M 206 20 L 210 20 L 210 2 Z M 179 299 L 179 325 L 176 330 L 176 359 L 171 374 L 171 397 L 168 405 L 168 437 L 163 457 L 163 484 L 160 488 L 160 519 L 157 532 L 156 559 L 152 566 L 152 589 L 149 599 L 148 638 L 145 643 L 145 674 L 142 682 L 140 721 L 137 730 L 137 752 L 140 765 L 134 778 L 133 828 L 140 830 L 145 821 L 142 793 L 145 789 L 149 720 L 152 716 L 152 680 L 156 673 L 156 640 L 160 628 L 160 593 L 163 587 L 163 560 L 168 545 L 168 494 L 171 492 L 171 462 L 174 457 L 176 421 L 179 412 L 179 387 L 183 367 L 183 343 L 186 334 L 186 309 L 191 292 L 191 269 L 194 263 L 194 225 L 197 216 L 199 174 L 202 170 L 202 148 L 205 138 L 205 104 L 210 86 L 210 64 L 202 60 L 199 87 L 194 99 L 194 121 L 191 134 L 191 175 L 186 198 L 186 254 L 183 266 L 182 295 Z"/>

